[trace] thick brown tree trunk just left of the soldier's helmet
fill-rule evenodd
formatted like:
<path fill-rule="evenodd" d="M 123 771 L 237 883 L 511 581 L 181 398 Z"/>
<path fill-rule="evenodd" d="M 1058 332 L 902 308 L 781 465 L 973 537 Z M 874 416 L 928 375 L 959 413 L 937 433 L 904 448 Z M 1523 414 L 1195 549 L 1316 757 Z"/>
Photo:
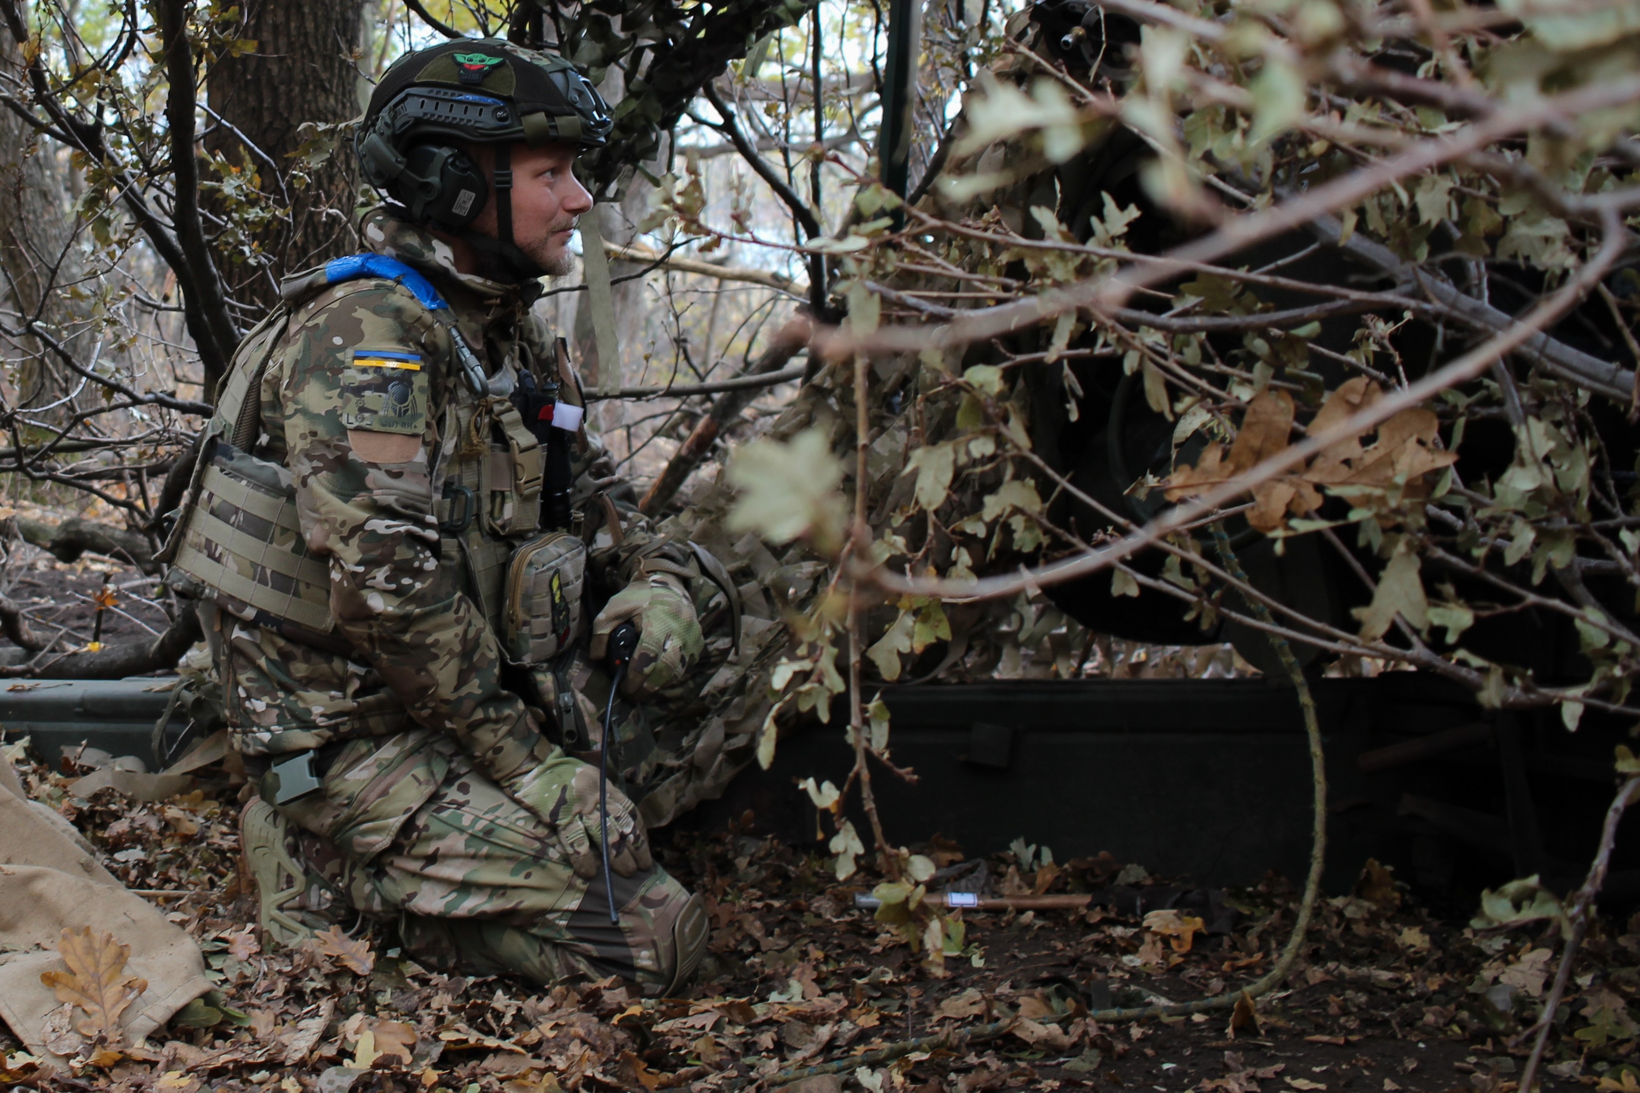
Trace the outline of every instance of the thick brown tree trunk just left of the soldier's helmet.
<path fill-rule="evenodd" d="M 256 46 L 220 57 L 207 75 L 220 121 L 208 118 L 205 147 L 241 170 L 254 169 L 280 213 L 243 234 L 223 231 L 216 241 L 230 293 L 251 310 L 248 318 L 272 308 L 285 274 L 359 249 L 351 147 L 338 143 L 312 167 L 292 156 L 307 143 L 303 123 L 336 125 L 361 113 L 354 54 L 364 8 L 366 0 L 244 0 L 233 33 Z M 305 184 L 300 175 L 290 179 L 292 170 Z M 221 195 L 210 195 L 210 208 L 218 216 L 231 213 Z"/>

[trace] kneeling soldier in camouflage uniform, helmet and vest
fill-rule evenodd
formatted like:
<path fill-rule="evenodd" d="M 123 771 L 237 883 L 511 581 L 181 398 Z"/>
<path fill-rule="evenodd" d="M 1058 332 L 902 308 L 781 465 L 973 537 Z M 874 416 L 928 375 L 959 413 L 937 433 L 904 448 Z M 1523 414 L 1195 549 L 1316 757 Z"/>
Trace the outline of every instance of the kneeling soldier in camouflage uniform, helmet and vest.
<path fill-rule="evenodd" d="M 566 752 L 595 754 L 571 678 L 589 634 L 602 657 L 636 628 L 630 696 L 676 685 L 722 572 L 607 498 L 571 505 L 594 446 L 530 305 L 567 272 L 592 206 L 572 162 L 608 129 L 553 54 L 403 57 L 356 141 L 395 198 L 364 221 L 372 254 L 289 279 L 223 383 L 166 557 L 261 795 L 243 837 L 277 941 L 312 927 L 318 885 L 471 973 L 658 995 L 699 964 L 699 896 Z"/>

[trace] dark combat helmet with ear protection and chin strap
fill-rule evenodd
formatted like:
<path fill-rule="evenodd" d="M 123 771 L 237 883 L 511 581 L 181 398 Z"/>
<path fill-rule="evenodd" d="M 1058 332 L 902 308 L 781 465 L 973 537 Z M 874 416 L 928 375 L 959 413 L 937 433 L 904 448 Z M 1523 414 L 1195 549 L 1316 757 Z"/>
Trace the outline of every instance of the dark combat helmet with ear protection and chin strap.
<path fill-rule="evenodd" d="M 366 182 L 417 223 L 449 231 L 538 277 L 513 243 L 512 146 L 567 141 L 599 147 L 613 126 L 608 103 L 564 57 L 497 38 L 462 38 L 400 57 L 371 95 L 354 151 Z M 494 144 L 485 179 L 462 144 Z M 497 238 L 469 231 L 495 193 Z"/>

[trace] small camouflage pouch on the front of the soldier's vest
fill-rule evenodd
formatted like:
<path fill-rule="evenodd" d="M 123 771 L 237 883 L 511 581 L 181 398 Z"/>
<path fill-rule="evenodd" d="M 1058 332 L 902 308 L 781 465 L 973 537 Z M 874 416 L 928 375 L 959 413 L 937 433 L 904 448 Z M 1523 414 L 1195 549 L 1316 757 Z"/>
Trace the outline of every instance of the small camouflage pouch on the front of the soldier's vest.
<path fill-rule="evenodd" d="M 551 531 L 513 551 L 507 564 L 502 646 L 515 664 L 544 665 L 581 641 L 587 547 Z"/>

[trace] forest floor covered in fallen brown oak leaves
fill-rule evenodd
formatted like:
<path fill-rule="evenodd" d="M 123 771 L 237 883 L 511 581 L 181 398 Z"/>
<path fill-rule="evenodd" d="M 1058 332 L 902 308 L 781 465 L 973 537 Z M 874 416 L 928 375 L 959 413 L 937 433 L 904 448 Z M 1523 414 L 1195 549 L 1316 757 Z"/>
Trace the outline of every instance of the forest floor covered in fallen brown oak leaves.
<path fill-rule="evenodd" d="M 840 885 L 823 857 L 738 831 L 661 832 L 669 869 L 708 896 L 702 982 L 667 1000 L 635 998 L 615 982 L 540 990 L 428 972 L 400 954 L 389 927 L 369 923 L 269 952 L 238 877 L 231 787 L 205 783 L 157 803 L 105 788 L 85 801 L 64 788 L 79 772 L 31 764 L 15 746 L 8 754 L 36 800 L 198 939 L 218 983 L 144 1044 L 115 1044 L 74 1075 L 43 1077 L 0 1032 L 3 1083 L 39 1088 L 736 1090 L 843 1062 L 840 1073 L 787 1088 L 1510 1093 L 1525 1057 L 1517 1037 L 1535 1019 L 1558 946 L 1553 932 L 1437 921 L 1369 867 L 1353 895 L 1325 901 L 1296 972 L 1256 1006 L 1100 1023 L 1089 1009 L 1233 996 L 1286 941 L 1292 888 L 1271 878 L 1192 890 L 1109 855 L 1056 865 L 1022 844 L 976 864 L 938 844 L 925 849 L 953 885 L 1094 891 L 1097 906 L 956 913 L 950 955 L 930 960 L 854 909 L 871 882 Z M 1630 1062 L 1640 1044 L 1635 927 L 1606 924 L 1584 947 L 1545 1088 L 1640 1093 Z M 992 1034 L 966 1036 L 981 1026 Z M 925 1042 L 895 1060 L 869 1055 L 910 1039 Z"/>

